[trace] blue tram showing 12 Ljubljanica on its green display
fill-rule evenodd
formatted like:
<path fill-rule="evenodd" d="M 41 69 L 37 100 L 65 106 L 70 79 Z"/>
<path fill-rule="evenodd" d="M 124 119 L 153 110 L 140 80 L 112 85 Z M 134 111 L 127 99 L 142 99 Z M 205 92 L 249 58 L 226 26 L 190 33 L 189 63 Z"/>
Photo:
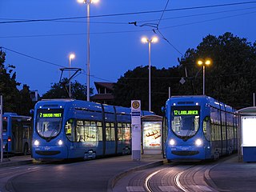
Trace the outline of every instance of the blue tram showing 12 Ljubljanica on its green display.
<path fill-rule="evenodd" d="M 218 159 L 238 149 L 238 118 L 232 107 L 205 95 L 176 96 L 164 110 L 169 161 Z"/>

